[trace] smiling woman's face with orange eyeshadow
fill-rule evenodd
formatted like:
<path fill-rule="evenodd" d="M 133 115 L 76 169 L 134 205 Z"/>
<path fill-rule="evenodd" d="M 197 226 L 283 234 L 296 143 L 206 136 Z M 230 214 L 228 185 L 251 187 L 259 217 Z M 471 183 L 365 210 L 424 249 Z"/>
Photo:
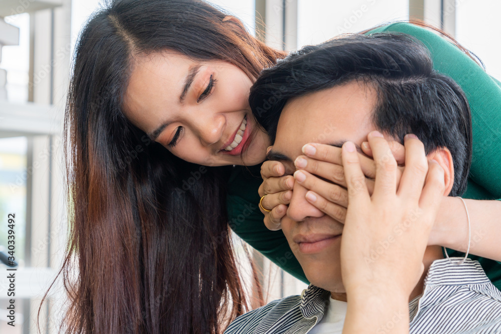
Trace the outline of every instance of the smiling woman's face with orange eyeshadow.
<path fill-rule="evenodd" d="M 248 104 L 253 81 L 224 61 L 195 62 L 176 52 L 134 60 L 125 93 L 126 117 L 179 158 L 205 166 L 265 160 L 268 136 L 256 126 Z"/>

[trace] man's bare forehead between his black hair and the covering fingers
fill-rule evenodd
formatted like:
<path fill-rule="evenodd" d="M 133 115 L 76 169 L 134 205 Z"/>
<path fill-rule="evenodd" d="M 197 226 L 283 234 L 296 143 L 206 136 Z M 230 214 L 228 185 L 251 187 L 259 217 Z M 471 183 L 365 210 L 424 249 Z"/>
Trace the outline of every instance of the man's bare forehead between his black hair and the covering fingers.
<path fill-rule="evenodd" d="M 361 144 L 373 128 L 374 104 L 375 95 L 357 82 L 291 99 L 280 116 L 269 158 L 294 160 L 307 143 Z"/>

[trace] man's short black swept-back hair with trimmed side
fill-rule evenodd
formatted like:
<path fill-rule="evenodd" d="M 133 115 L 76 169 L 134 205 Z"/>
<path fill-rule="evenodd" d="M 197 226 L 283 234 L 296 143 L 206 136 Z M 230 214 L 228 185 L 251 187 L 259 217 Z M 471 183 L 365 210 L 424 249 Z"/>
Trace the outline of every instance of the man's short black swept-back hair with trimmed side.
<path fill-rule="evenodd" d="M 428 49 L 411 36 L 345 35 L 306 46 L 265 69 L 250 90 L 249 103 L 273 143 L 289 99 L 354 80 L 377 92 L 372 123 L 379 131 L 402 143 L 413 133 L 426 154 L 449 149 L 454 165 L 449 196 L 461 195 L 471 163 L 468 101 L 451 78 L 433 70 Z"/>

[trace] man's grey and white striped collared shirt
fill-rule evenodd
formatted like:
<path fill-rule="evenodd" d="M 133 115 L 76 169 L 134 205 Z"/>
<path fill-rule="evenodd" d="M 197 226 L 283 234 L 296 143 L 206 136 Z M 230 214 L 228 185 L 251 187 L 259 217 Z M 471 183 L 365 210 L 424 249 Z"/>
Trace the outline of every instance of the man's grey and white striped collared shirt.
<path fill-rule="evenodd" d="M 301 295 L 274 300 L 237 317 L 224 333 L 307 333 L 322 319 L 329 296 L 329 291 L 310 284 Z M 423 293 L 409 303 L 409 314 L 411 334 L 501 333 L 501 292 L 478 261 L 466 259 L 457 265 L 439 259 L 428 270 Z M 399 318 L 395 314 L 392 321 Z M 376 334 L 389 332 L 392 321 Z"/>

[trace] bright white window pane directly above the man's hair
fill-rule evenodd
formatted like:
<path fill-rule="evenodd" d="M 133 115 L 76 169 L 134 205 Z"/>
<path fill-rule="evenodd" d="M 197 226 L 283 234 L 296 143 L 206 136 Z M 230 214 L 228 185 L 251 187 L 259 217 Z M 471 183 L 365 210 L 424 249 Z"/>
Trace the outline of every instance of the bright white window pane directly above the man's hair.
<path fill-rule="evenodd" d="M 298 48 L 408 17 L 408 0 L 298 0 Z"/>

